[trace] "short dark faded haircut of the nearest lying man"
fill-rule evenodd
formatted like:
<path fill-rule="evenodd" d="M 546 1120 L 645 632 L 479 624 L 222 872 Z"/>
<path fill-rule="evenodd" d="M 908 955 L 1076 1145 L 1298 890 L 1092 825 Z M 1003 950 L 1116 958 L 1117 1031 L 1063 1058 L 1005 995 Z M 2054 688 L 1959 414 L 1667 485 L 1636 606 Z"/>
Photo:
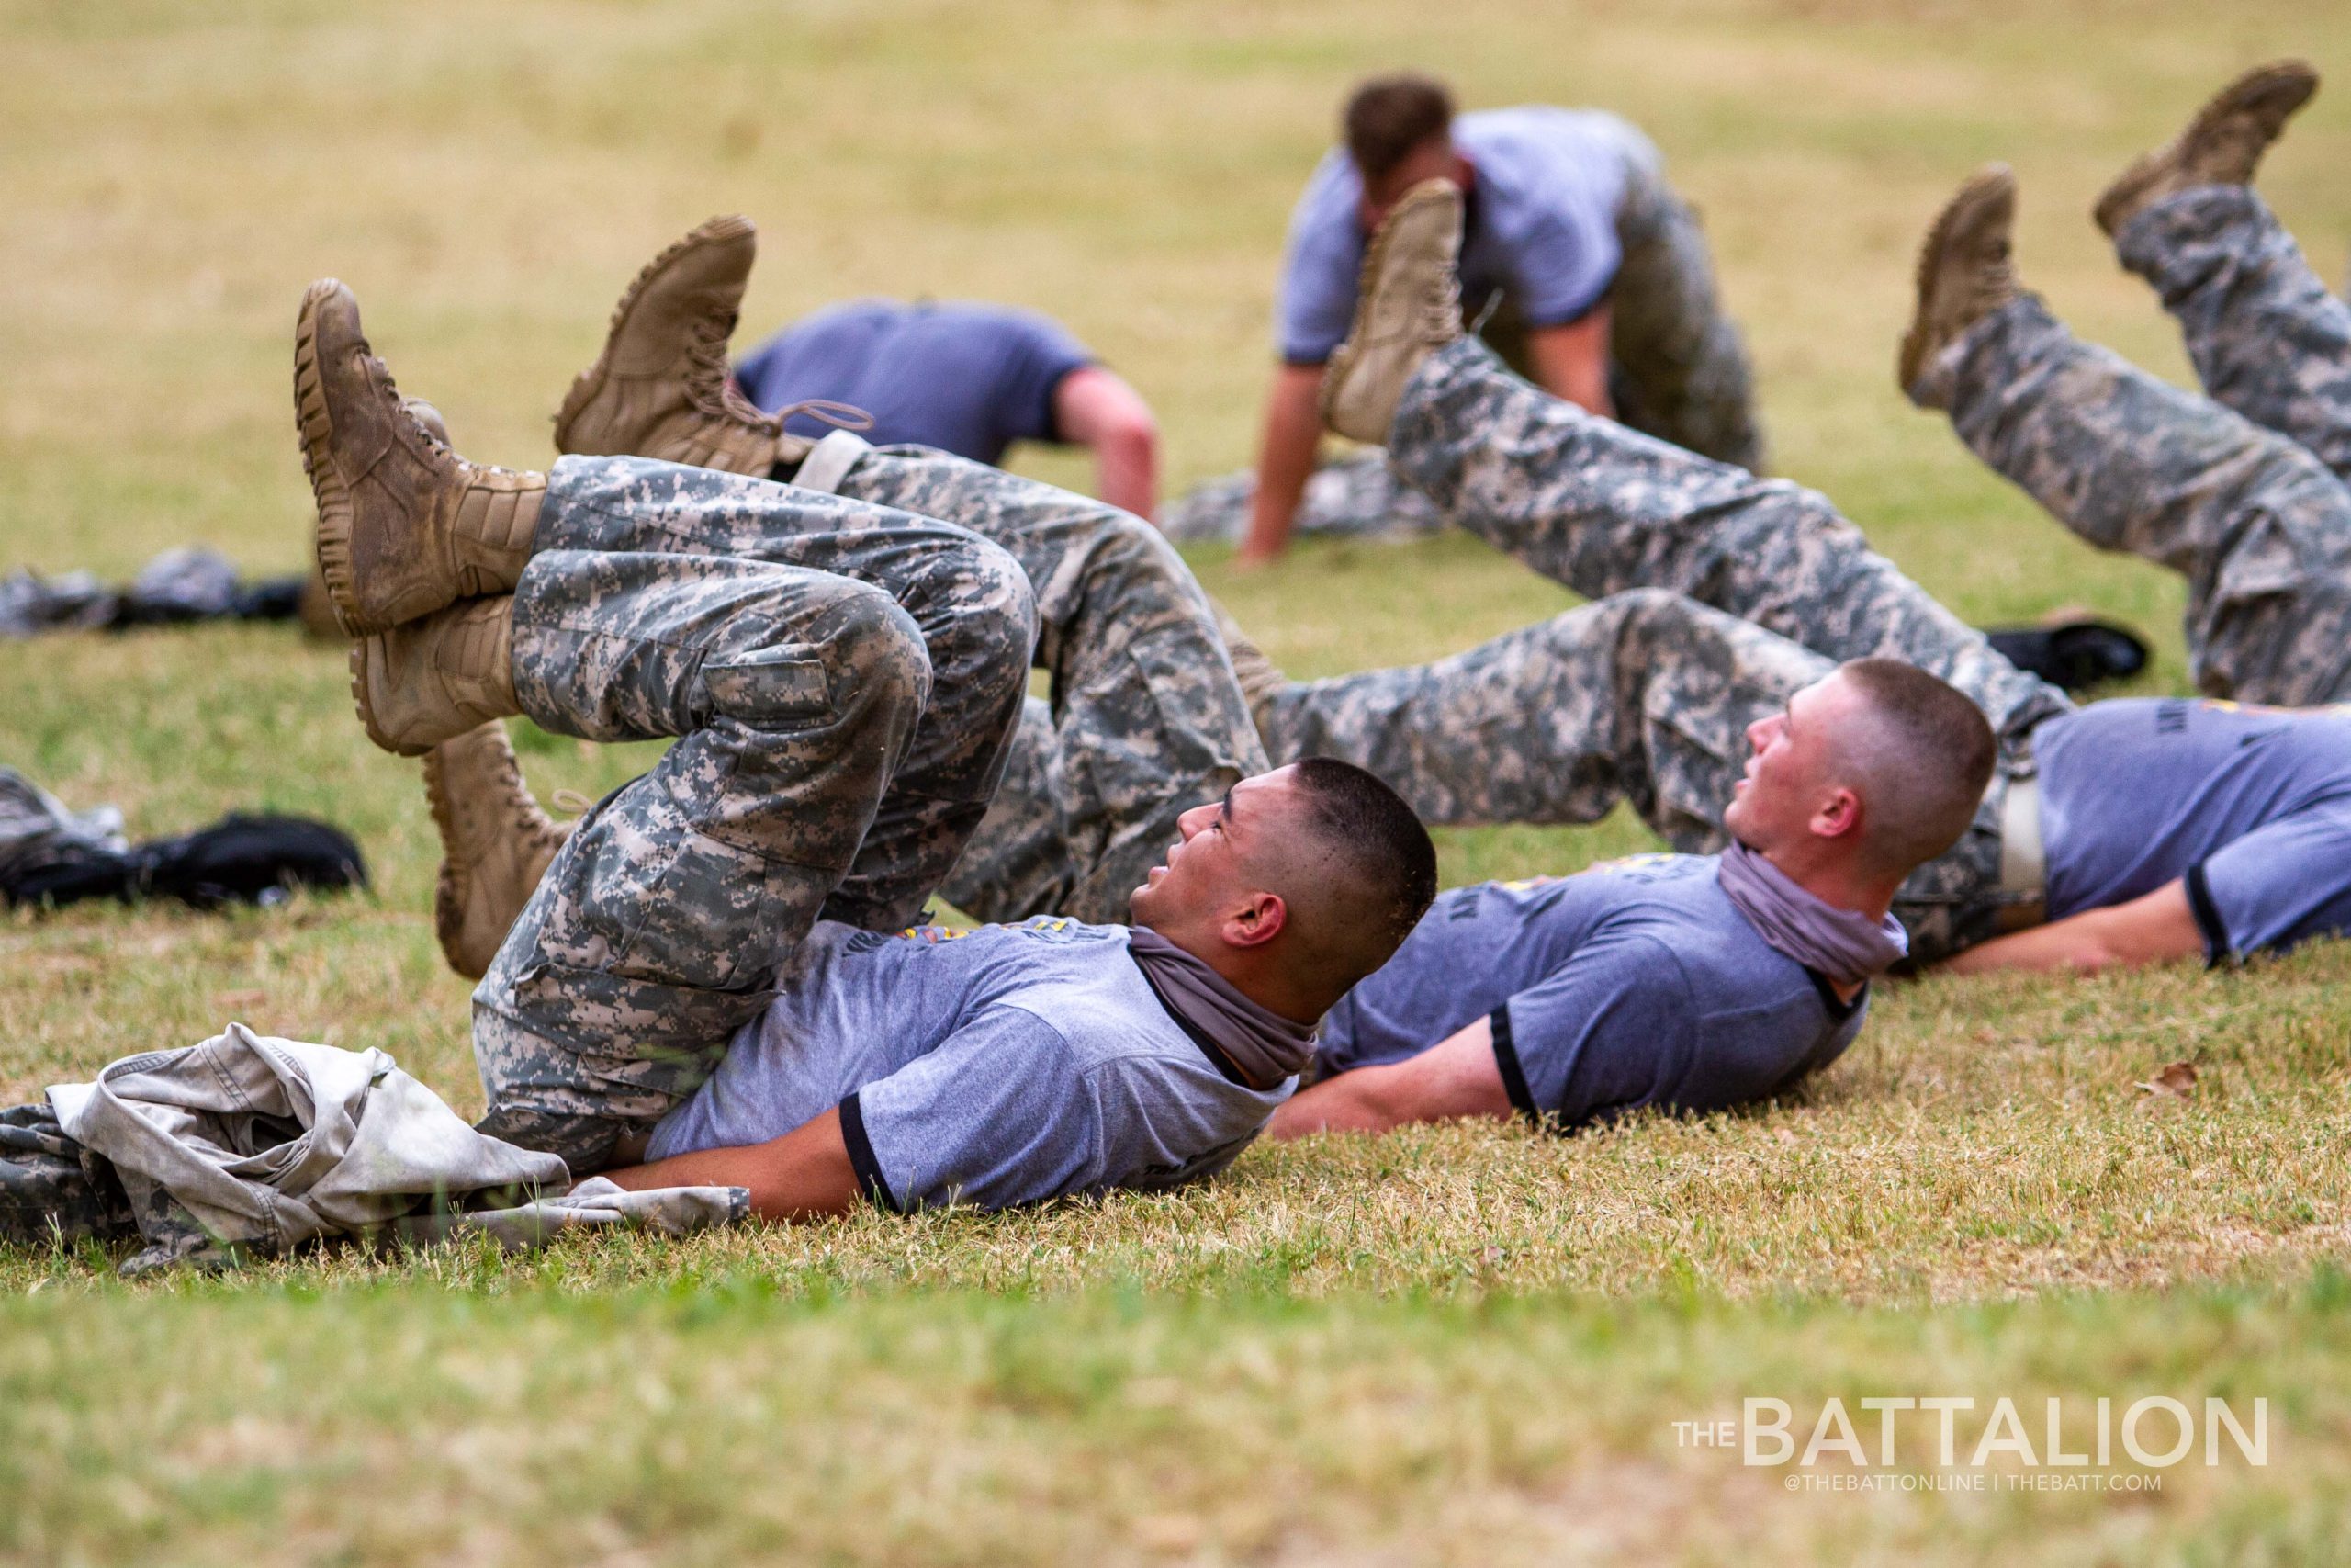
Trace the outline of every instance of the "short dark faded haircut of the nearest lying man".
<path fill-rule="evenodd" d="M 1436 898 L 1436 846 L 1404 797 L 1335 757 L 1298 766 L 1302 844 L 1281 851 L 1300 957 L 1345 990 L 1385 964 Z"/>

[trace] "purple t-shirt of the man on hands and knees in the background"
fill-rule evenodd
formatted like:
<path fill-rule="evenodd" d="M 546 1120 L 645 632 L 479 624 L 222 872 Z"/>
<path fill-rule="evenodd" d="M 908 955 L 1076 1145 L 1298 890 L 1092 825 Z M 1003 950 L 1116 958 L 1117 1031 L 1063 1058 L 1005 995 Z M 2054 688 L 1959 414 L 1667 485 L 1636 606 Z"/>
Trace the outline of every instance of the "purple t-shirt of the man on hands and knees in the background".
<path fill-rule="evenodd" d="M 1632 158 L 1655 158 L 1629 122 L 1596 108 L 1486 108 L 1455 115 L 1453 150 L 1476 169 L 1462 235 L 1462 303 L 1474 315 L 1495 292 L 1528 327 L 1580 320 L 1615 282 L 1617 205 Z M 1291 212 L 1274 308 L 1288 364 L 1321 364 L 1347 341 L 1364 273 L 1364 176 L 1333 148 Z"/>

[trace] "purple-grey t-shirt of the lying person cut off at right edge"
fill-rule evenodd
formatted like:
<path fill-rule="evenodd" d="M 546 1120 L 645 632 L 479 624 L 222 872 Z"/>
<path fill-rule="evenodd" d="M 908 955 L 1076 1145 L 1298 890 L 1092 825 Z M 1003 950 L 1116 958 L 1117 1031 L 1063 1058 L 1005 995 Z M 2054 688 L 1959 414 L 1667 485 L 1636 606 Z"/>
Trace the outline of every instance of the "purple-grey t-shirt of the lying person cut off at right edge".
<path fill-rule="evenodd" d="M 2351 931 L 2351 708 L 2114 698 L 2034 757 L 2050 919 L 2184 877 L 2210 959 Z"/>

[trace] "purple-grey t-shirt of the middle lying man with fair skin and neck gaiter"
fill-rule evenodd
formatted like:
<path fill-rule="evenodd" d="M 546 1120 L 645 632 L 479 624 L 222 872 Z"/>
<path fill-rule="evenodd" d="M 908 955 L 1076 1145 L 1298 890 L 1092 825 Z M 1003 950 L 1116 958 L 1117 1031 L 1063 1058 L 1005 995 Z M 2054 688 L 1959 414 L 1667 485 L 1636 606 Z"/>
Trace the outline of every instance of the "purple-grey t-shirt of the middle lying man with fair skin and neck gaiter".
<path fill-rule="evenodd" d="M 1512 1105 L 1573 1128 L 1780 1093 L 1853 1044 L 1867 1001 L 1766 945 L 1714 856 L 1632 856 L 1441 893 L 1324 1018 L 1317 1065 L 1394 1063 L 1491 1018 Z"/>

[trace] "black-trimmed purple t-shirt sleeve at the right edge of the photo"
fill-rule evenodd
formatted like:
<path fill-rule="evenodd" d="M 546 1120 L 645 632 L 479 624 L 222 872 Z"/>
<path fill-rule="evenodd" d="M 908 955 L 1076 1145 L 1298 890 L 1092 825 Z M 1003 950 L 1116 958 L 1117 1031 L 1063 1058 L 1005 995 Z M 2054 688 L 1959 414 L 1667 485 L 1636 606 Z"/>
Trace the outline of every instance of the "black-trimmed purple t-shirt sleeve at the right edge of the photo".
<path fill-rule="evenodd" d="M 2280 816 L 2189 870 L 2212 961 L 2351 931 L 2351 802 Z"/>

